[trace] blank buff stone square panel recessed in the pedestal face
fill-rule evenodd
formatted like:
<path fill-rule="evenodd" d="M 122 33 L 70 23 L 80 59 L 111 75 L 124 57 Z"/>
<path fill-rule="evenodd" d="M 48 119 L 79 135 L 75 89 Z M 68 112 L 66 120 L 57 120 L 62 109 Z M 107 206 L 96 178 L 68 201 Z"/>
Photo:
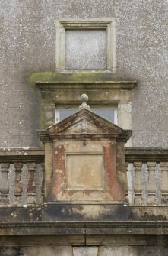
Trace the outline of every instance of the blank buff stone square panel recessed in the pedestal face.
<path fill-rule="evenodd" d="M 71 190 L 103 189 L 103 154 L 67 154 L 66 181 Z"/>

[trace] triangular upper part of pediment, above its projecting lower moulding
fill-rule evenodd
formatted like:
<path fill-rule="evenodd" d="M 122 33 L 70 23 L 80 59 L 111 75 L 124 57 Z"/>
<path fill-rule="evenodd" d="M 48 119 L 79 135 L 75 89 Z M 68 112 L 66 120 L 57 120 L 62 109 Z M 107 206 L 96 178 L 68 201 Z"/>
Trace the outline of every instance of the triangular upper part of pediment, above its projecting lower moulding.
<path fill-rule="evenodd" d="M 122 128 L 107 121 L 87 109 L 81 109 L 58 124 L 46 129 L 50 135 L 55 134 L 113 134 L 122 133 Z"/>

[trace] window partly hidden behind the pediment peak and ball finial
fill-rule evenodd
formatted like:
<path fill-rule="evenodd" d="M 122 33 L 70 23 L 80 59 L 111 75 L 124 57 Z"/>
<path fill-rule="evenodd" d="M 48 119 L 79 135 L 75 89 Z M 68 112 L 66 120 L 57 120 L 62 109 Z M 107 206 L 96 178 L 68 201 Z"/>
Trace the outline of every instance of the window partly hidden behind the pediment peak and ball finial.
<path fill-rule="evenodd" d="M 117 125 L 117 108 L 116 107 L 106 107 L 106 106 L 90 106 L 91 111 L 97 115 L 102 116 L 106 120 L 113 122 Z M 78 111 L 77 106 L 57 106 L 55 108 L 55 122 L 60 122 L 69 115 Z"/>

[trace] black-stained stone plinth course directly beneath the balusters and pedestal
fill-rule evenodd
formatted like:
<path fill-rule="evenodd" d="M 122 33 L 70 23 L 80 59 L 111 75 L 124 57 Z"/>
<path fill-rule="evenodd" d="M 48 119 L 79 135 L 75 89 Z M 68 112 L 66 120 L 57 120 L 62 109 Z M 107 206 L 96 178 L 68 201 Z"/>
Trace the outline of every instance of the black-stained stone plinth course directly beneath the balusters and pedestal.
<path fill-rule="evenodd" d="M 41 206 L 1 206 L 0 225 L 9 222 L 168 222 L 168 207 L 125 203 L 45 203 Z M 5 225 L 6 225 L 5 224 Z"/>

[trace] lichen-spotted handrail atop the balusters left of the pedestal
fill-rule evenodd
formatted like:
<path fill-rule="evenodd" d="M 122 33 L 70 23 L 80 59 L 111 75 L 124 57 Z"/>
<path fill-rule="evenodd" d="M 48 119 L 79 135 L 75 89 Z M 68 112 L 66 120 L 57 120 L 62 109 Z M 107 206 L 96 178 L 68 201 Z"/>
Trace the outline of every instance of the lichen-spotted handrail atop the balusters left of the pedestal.
<path fill-rule="evenodd" d="M 7 147 L 0 148 L 0 163 L 15 162 L 21 163 L 41 163 L 44 161 L 44 150 L 39 148 L 25 148 L 25 147 Z"/>

